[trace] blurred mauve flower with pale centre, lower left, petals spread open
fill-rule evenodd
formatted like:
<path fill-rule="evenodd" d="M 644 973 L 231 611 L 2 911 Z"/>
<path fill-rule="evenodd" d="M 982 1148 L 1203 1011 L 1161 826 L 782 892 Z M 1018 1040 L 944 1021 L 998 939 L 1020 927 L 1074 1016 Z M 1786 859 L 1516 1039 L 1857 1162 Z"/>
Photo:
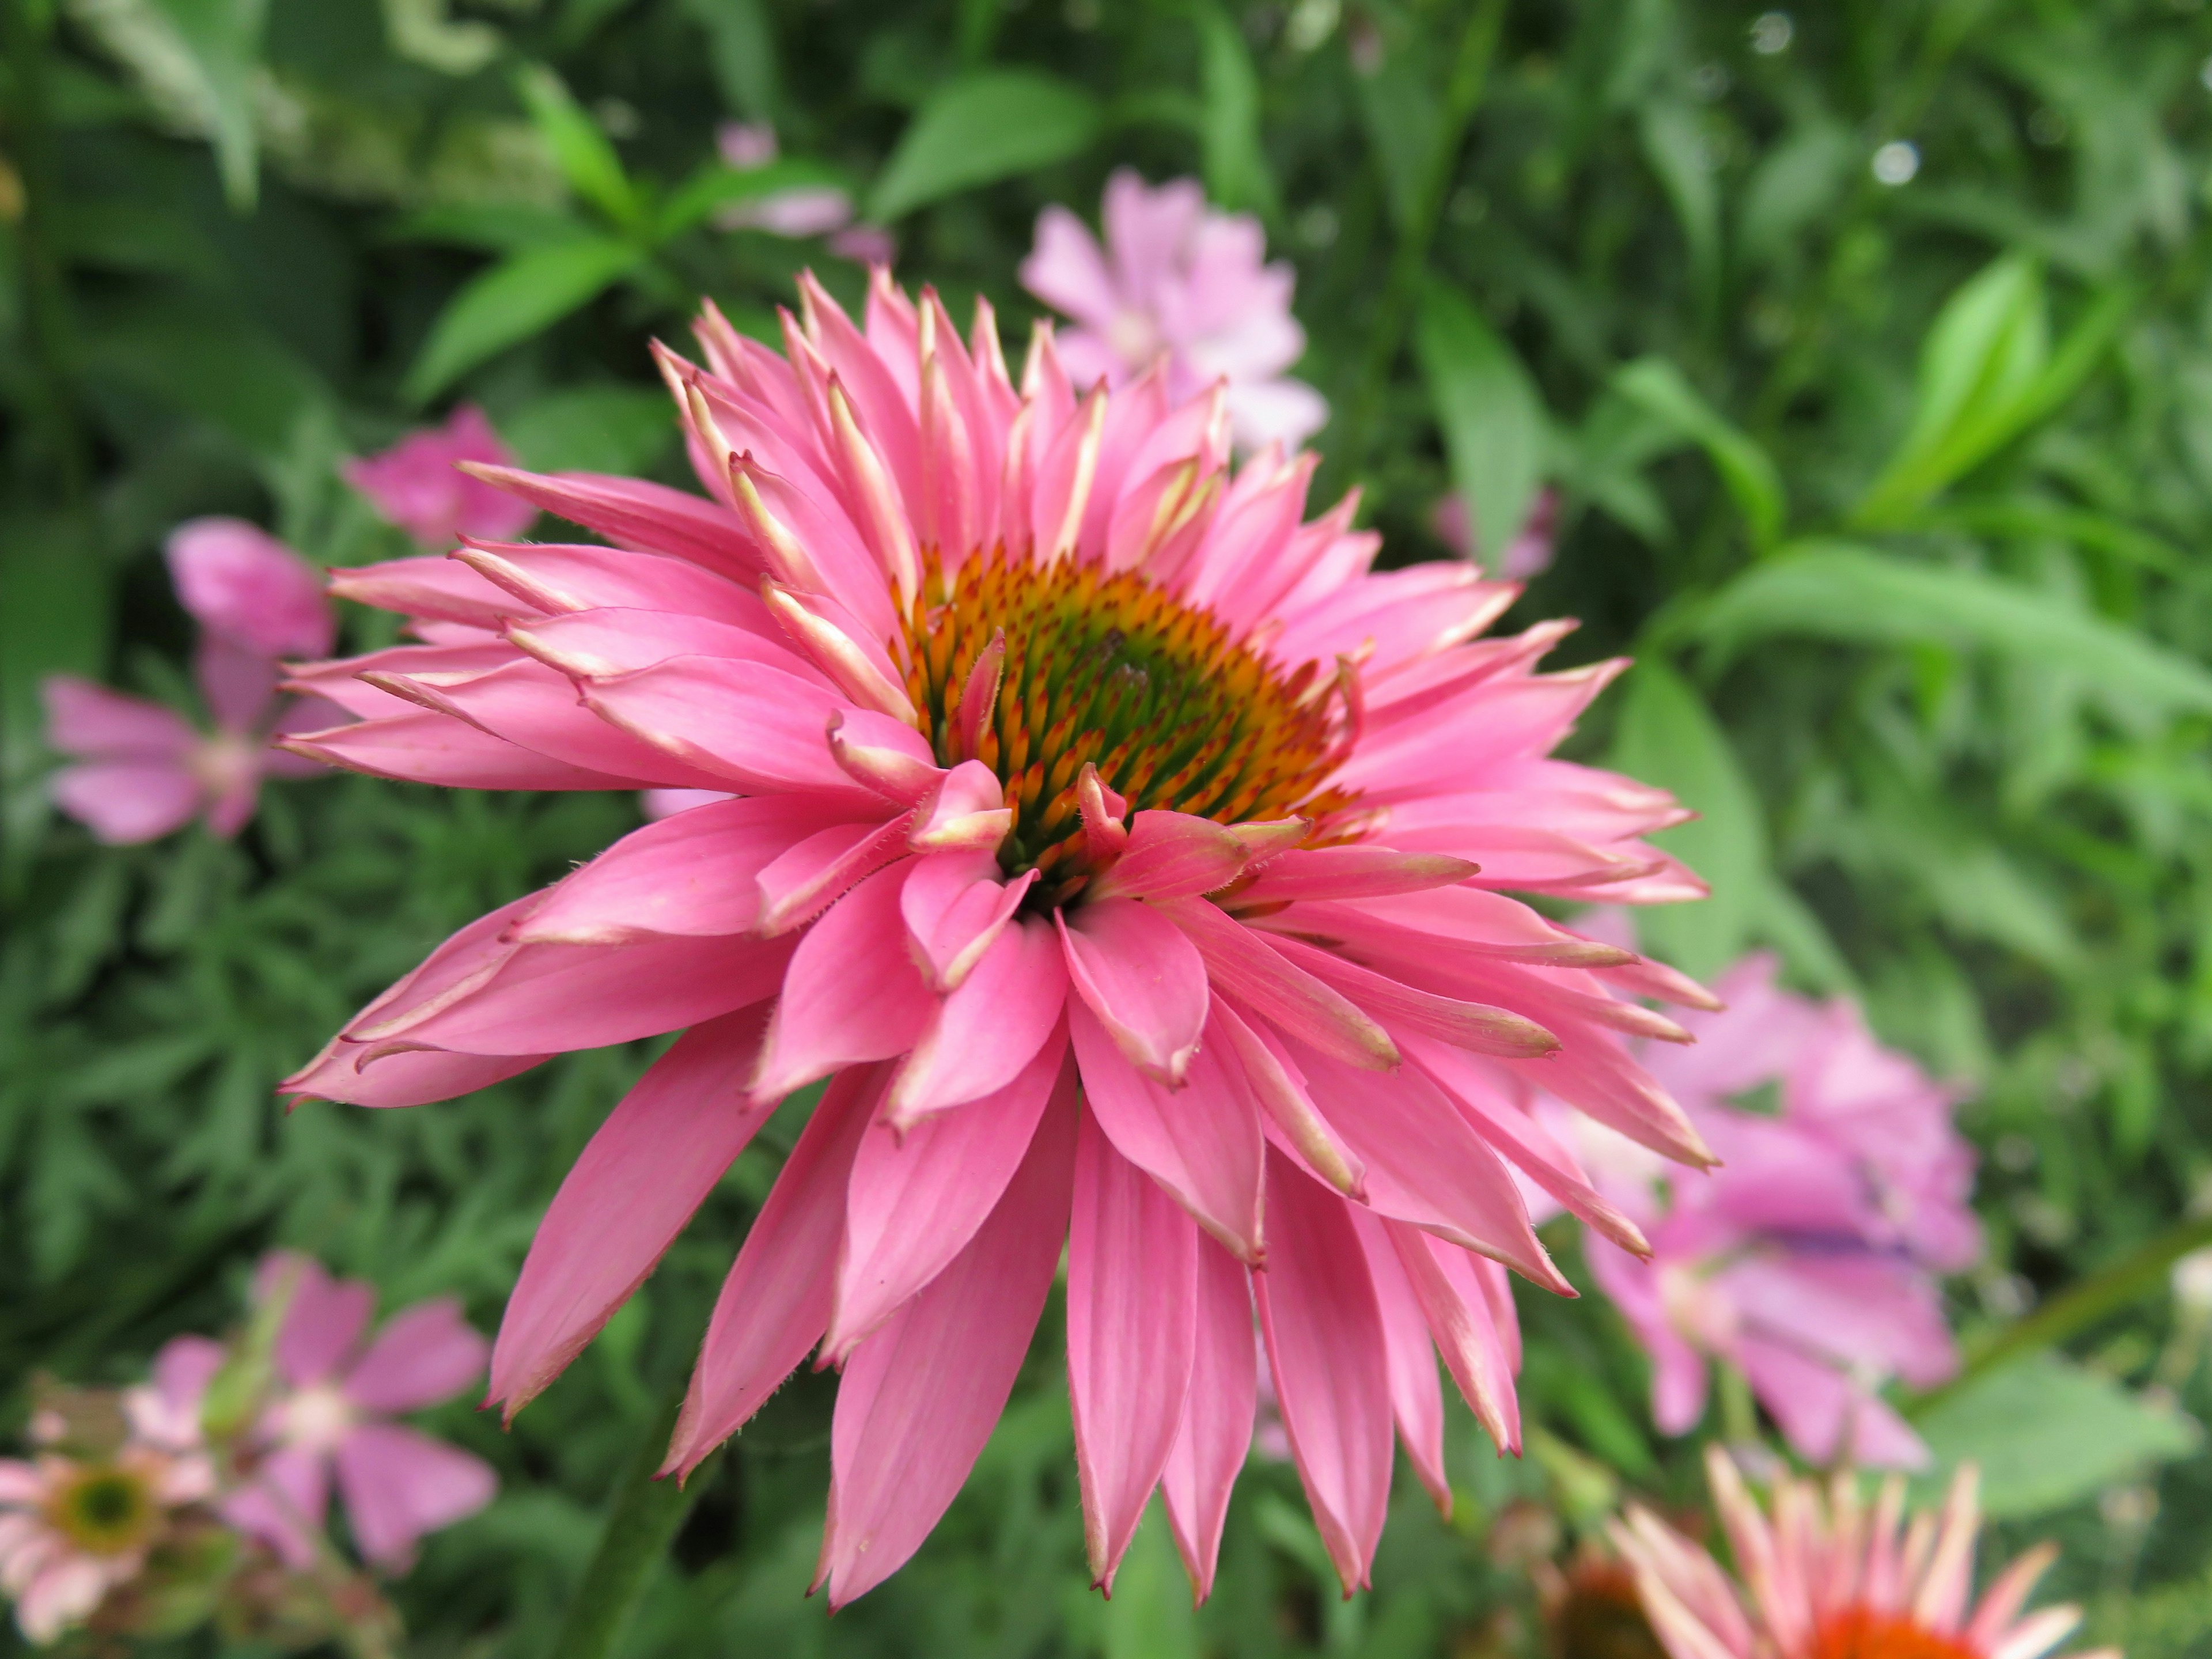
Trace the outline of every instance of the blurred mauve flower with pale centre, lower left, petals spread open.
<path fill-rule="evenodd" d="M 363 1557 L 405 1568 L 418 1537 L 489 1504 L 498 1475 L 482 1458 L 389 1418 L 462 1394 L 482 1376 L 491 1345 L 456 1301 L 438 1298 L 394 1314 L 363 1347 L 376 1292 L 292 1252 L 265 1256 L 254 1274 L 259 1301 L 283 1294 L 276 1391 L 259 1429 L 265 1455 L 257 1480 L 223 1500 L 223 1517 L 307 1566 L 336 1471 Z"/>

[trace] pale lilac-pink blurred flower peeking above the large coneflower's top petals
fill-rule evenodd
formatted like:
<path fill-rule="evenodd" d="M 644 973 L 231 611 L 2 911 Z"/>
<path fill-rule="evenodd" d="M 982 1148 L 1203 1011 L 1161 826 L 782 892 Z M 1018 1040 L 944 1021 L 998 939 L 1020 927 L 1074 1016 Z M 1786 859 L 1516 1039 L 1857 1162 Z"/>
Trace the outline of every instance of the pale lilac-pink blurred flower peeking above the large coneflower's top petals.
<path fill-rule="evenodd" d="M 1175 403 L 1228 380 L 1243 449 L 1296 449 L 1323 427 L 1327 400 L 1285 376 L 1305 356 L 1290 314 L 1296 274 L 1265 263 L 1259 219 L 1210 210 L 1197 179 L 1155 188 L 1121 168 L 1106 181 L 1104 221 L 1099 248 L 1082 219 L 1051 206 L 1022 261 L 1022 285 L 1075 319 L 1057 345 L 1077 387 L 1126 385 L 1166 356 Z"/>

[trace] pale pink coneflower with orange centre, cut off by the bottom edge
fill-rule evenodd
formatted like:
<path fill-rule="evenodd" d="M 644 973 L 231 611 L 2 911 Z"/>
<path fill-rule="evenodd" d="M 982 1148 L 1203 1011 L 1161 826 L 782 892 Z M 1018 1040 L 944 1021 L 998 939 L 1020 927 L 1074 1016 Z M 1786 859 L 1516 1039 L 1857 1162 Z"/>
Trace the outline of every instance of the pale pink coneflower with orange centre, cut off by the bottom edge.
<path fill-rule="evenodd" d="M 2022 1617 L 2057 1551 L 2044 1544 L 2004 1568 L 1973 1601 L 1980 1528 L 1973 1469 L 1960 1469 L 1942 1513 L 1905 1517 L 1905 1480 L 1891 1475 L 1871 1509 L 1851 1475 L 1823 1498 L 1809 1480 L 1781 1478 L 1763 1509 L 1728 1453 L 1705 1471 L 1736 1559 L 1719 1562 L 1648 1509 L 1613 1522 L 1659 1641 L 1672 1659 L 2042 1659 L 2081 1610 Z M 2119 1659 L 2099 1648 L 2077 1659 Z"/>

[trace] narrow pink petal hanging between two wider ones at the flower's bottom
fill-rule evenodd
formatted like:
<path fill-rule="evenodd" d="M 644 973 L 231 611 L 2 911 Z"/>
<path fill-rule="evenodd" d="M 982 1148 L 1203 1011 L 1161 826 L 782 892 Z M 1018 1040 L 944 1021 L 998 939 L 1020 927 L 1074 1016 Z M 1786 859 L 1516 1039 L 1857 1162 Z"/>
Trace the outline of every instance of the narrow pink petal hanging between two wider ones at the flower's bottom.
<path fill-rule="evenodd" d="M 1197 1347 L 1183 1420 L 1159 1475 L 1175 1546 L 1197 1599 L 1214 1588 L 1230 1491 L 1252 1447 L 1259 1360 L 1252 1343 L 1252 1281 L 1245 1265 L 1212 1239 L 1199 1241 Z"/>

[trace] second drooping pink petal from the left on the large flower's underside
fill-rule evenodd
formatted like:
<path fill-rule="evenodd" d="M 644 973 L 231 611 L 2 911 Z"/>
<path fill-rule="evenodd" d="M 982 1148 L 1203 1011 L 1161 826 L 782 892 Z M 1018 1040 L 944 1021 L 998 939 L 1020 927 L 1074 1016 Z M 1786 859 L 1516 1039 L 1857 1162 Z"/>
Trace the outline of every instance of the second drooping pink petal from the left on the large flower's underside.
<path fill-rule="evenodd" d="M 830 1325 L 845 1186 L 883 1097 L 883 1068 L 830 1079 L 714 1298 L 661 1473 L 688 1475 L 737 1433 Z"/>

